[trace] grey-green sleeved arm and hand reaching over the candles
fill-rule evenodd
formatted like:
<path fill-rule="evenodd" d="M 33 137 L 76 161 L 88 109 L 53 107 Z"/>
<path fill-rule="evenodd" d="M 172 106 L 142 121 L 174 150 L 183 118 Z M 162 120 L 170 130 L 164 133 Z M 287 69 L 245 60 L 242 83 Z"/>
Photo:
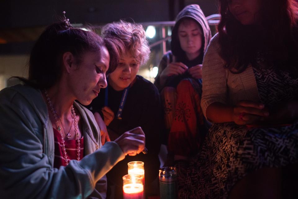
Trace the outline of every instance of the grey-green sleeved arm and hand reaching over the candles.
<path fill-rule="evenodd" d="M 43 124 L 22 96 L 0 97 L 0 192 L 3 198 L 86 198 L 124 154 L 143 150 L 140 129 L 69 165 L 53 168 L 51 123 Z M 16 102 L 15 102 L 16 101 Z M 137 135 L 136 135 L 137 134 Z M 133 143 L 130 145 L 130 143 Z"/>

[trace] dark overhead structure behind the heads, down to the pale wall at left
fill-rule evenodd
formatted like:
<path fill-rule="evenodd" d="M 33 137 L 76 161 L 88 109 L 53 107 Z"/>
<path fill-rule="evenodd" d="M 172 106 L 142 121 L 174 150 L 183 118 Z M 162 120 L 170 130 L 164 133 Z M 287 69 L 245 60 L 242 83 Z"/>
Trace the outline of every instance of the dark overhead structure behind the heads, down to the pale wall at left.
<path fill-rule="evenodd" d="M 206 16 L 217 13 L 216 0 L 0 0 L 0 55 L 28 54 L 43 27 L 66 11 L 72 24 L 104 25 L 171 21 L 184 6 L 199 4 Z"/>

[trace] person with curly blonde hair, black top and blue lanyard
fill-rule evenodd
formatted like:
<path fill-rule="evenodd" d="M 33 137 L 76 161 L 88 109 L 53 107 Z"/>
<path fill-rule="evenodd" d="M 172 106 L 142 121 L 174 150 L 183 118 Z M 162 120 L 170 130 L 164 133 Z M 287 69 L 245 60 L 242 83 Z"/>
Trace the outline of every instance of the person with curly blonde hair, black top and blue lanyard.
<path fill-rule="evenodd" d="M 120 56 L 116 69 L 108 76 L 107 88 L 99 93 L 89 109 L 94 112 L 95 118 L 102 116 L 109 135 L 106 140 L 114 140 L 126 129 L 140 126 L 146 134 L 148 149 L 146 155 L 139 154 L 120 161 L 107 174 L 108 186 L 115 186 L 115 198 L 122 198 L 121 176 L 127 174 L 128 162 L 144 162 L 146 188 L 152 187 L 150 184 L 157 178 L 163 116 L 157 88 L 137 75 L 139 67 L 148 61 L 150 54 L 142 25 L 120 20 L 104 26 L 102 36 L 124 46 L 125 52 Z M 147 189 L 146 194 L 150 194 L 150 190 Z"/>

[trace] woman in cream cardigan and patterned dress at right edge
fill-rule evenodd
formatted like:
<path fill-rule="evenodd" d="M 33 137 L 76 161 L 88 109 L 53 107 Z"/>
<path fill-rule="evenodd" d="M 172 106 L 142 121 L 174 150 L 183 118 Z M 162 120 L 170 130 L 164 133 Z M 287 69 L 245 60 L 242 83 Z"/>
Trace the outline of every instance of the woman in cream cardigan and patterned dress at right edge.
<path fill-rule="evenodd" d="M 180 198 L 293 198 L 297 2 L 219 2 L 222 18 L 204 57 L 201 99 L 213 125 L 201 152 L 180 170 Z"/>

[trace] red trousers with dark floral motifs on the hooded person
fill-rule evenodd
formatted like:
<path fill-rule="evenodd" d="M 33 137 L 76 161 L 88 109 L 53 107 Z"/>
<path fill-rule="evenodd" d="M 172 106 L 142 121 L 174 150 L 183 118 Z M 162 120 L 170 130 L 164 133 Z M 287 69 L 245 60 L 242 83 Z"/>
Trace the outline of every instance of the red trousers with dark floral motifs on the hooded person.
<path fill-rule="evenodd" d="M 162 92 L 166 127 L 170 129 L 168 151 L 171 154 L 189 156 L 196 153 L 205 136 L 197 89 L 200 89 L 198 83 L 189 78 L 181 80 L 176 88 L 165 87 Z"/>

